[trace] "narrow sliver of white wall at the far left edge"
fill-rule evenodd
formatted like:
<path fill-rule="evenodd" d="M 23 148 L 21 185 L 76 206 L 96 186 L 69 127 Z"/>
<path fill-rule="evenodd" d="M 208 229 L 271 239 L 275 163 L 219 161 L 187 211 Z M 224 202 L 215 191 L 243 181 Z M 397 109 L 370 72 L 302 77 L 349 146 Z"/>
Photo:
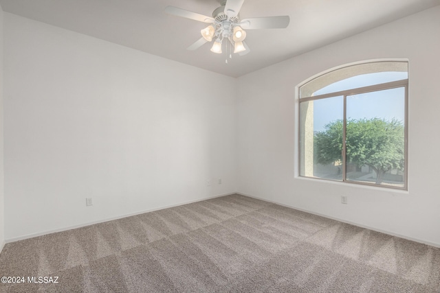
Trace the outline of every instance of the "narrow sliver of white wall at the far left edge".
<path fill-rule="evenodd" d="M 5 245 L 3 165 L 3 10 L 0 6 L 0 252 Z"/>

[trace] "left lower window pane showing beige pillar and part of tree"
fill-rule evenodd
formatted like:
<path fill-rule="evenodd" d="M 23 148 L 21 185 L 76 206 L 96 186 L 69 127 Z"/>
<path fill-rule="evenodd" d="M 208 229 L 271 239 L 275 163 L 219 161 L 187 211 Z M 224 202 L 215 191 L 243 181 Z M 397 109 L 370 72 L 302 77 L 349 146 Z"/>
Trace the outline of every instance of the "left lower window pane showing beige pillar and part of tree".
<path fill-rule="evenodd" d="M 300 104 L 300 175 L 342 180 L 344 97 Z"/>

